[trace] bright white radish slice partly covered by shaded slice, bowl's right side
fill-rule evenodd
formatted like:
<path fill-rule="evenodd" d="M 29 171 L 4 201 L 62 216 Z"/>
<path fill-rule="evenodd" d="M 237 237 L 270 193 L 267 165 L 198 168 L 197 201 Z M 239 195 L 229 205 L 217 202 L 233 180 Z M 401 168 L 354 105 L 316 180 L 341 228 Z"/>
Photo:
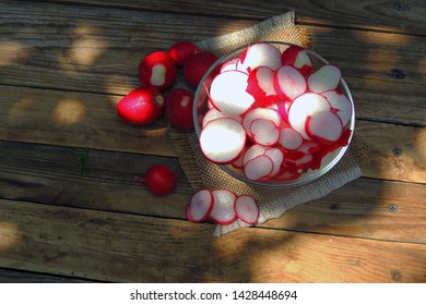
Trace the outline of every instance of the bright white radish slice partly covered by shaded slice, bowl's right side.
<path fill-rule="evenodd" d="M 306 139 L 311 139 L 305 131 L 306 120 L 320 111 L 331 111 L 331 106 L 322 95 L 306 93 L 297 97 L 288 108 L 288 123 Z"/>

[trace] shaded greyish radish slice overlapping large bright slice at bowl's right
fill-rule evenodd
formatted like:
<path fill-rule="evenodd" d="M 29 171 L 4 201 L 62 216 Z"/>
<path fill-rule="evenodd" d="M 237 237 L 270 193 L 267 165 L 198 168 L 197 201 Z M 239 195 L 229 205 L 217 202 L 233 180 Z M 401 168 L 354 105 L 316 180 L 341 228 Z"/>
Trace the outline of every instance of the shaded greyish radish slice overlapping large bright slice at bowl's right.
<path fill-rule="evenodd" d="M 331 145 L 342 135 L 342 121 L 334 112 L 316 112 L 306 120 L 306 132 L 318 143 Z"/>

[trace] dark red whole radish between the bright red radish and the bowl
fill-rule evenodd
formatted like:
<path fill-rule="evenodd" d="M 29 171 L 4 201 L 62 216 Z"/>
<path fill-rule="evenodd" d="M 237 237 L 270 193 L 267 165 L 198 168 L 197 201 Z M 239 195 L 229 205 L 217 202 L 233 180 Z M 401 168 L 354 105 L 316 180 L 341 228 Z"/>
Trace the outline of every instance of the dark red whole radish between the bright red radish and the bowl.
<path fill-rule="evenodd" d="M 179 131 L 193 131 L 192 105 L 193 95 L 189 90 L 185 88 L 170 90 L 164 111 L 166 120 Z"/>

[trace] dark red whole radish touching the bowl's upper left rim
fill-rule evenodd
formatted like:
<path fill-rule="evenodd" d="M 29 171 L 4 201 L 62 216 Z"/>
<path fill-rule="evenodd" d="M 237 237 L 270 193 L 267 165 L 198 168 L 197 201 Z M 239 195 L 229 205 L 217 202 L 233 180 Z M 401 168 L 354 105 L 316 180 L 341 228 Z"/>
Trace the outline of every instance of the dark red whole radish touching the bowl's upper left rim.
<path fill-rule="evenodd" d="M 208 72 L 209 68 L 213 65 L 217 60 L 217 56 L 210 51 L 202 51 L 196 54 L 190 56 L 184 63 L 184 77 L 185 80 L 194 88 L 198 87 L 201 78 Z M 217 72 L 211 74 L 211 80 L 218 73 L 220 66 L 217 66 Z M 210 82 L 211 80 L 208 80 Z"/>

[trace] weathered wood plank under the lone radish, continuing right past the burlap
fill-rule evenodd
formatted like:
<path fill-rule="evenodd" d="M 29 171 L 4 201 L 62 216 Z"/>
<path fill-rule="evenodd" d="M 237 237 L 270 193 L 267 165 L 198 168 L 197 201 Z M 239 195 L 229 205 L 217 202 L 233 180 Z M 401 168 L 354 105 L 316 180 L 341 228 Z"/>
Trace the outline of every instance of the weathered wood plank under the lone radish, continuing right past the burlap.
<path fill-rule="evenodd" d="M 2 198 L 186 219 L 192 193 L 176 158 L 88 150 L 88 171 L 79 173 L 81 149 L 0 142 Z M 155 163 L 170 167 L 177 188 L 152 196 L 133 175 Z M 267 228 L 426 243 L 424 184 L 359 179 L 330 195 L 289 210 Z M 398 208 L 398 211 L 395 209 Z"/>

